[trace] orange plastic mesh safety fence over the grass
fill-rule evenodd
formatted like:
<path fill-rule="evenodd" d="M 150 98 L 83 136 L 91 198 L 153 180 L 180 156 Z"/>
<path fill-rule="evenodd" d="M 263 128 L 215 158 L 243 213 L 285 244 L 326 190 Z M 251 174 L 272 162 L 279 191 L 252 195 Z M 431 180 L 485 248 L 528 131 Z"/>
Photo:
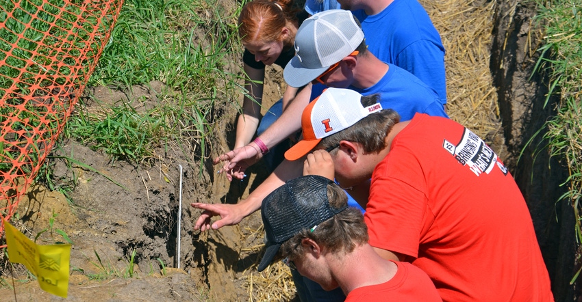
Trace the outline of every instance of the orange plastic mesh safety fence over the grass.
<path fill-rule="evenodd" d="M 0 0 L 0 218 L 12 217 L 51 151 L 122 3 Z"/>

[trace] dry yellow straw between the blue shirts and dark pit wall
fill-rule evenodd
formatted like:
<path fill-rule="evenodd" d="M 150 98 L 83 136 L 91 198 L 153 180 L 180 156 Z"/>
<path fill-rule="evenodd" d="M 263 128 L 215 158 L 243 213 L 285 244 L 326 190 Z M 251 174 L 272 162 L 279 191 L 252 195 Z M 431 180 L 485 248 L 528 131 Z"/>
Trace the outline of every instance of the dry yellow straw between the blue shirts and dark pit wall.
<path fill-rule="evenodd" d="M 446 49 L 448 115 L 492 143 L 501 135 L 497 93 L 489 68 L 495 1 L 420 3 Z"/>

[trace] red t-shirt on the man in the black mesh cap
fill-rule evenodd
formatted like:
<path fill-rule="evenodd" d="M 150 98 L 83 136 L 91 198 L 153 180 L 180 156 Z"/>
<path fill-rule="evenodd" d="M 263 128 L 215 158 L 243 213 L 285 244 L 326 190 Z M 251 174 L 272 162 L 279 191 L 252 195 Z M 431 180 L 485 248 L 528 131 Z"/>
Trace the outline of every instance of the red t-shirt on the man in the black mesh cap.
<path fill-rule="evenodd" d="M 398 271 L 383 284 L 362 286 L 352 290 L 346 302 L 370 301 L 442 301 L 427 273 L 407 262 L 394 262 Z"/>

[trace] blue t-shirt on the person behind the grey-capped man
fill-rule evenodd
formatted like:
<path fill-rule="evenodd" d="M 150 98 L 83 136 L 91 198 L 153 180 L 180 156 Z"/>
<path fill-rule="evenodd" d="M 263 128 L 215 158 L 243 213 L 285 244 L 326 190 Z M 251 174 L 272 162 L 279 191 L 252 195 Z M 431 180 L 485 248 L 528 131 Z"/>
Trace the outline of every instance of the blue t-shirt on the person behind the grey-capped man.
<path fill-rule="evenodd" d="M 431 18 L 416 0 L 394 0 L 379 14 L 353 12 L 368 50 L 382 61 L 408 70 L 437 92 L 446 104 L 444 46 Z"/>

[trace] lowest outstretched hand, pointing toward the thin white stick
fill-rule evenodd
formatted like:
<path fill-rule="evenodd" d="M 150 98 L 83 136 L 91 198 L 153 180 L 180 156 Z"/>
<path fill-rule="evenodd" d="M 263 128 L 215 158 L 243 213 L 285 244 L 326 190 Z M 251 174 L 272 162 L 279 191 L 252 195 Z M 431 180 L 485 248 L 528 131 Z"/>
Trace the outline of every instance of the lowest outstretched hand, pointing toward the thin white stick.
<path fill-rule="evenodd" d="M 202 204 L 194 202 L 190 204 L 194 208 L 204 210 L 196 223 L 194 230 L 218 230 L 225 225 L 236 225 L 246 217 L 240 204 Z M 212 223 L 212 217 L 220 216 L 220 219 Z"/>

